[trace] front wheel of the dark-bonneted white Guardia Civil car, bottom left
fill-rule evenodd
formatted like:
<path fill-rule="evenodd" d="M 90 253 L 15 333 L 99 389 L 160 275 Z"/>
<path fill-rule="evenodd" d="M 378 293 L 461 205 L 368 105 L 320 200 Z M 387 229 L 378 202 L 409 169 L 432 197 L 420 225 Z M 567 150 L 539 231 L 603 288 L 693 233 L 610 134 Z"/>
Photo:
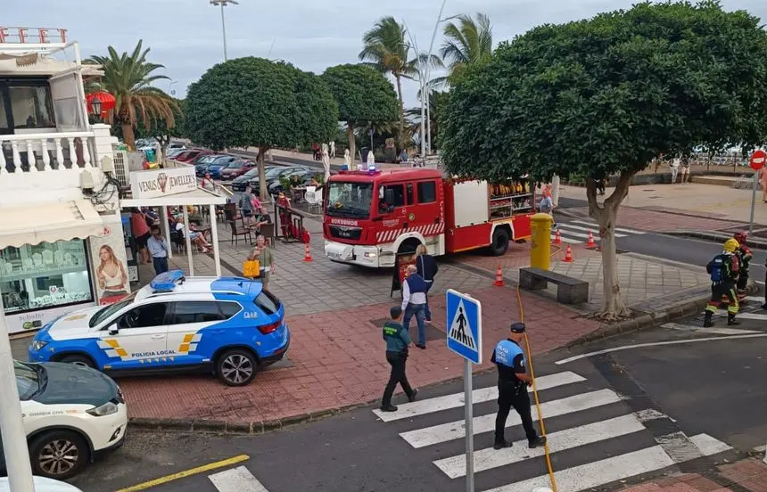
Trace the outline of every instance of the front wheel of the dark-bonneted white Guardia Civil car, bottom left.
<path fill-rule="evenodd" d="M 32 472 L 56 480 L 75 476 L 88 461 L 85 439 L 70 430 L 45 432 L 29 443 Z"/>

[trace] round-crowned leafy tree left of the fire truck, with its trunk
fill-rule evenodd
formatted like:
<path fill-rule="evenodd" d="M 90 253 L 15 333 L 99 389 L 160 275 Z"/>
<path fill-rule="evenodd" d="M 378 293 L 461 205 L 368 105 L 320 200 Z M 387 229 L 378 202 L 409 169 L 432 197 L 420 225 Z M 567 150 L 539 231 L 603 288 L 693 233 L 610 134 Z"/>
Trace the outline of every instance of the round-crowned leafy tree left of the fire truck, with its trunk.
<path fill-rule="evenodd" d="M 214 150 L 259 148 L 260 195 L 267 199 L 264 156 L 273 147 L 327 142 L 338 105 L 316 75 L 284 61 L 238 58 L 210 68 L 189 86 L 186 136 Z"/>

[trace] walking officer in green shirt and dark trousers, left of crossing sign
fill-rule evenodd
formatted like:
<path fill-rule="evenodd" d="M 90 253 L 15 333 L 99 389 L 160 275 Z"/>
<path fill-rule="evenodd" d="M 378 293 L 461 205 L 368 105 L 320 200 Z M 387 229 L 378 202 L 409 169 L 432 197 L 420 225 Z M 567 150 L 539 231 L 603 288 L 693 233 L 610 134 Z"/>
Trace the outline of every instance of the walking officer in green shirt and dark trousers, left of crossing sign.
<path fill-rule="evenodd" d="M 392 405 L 392 395 L 394 389 L 399 384 L 408 395 L 408 401 L 416 401 L 417 389 L 410 388 L 408 376 L 405 374 L 405 362 L 408 360 L 408 346 L 410 345 L 410 334 L 408 330 L 400 323 L 402 318 L 402 308 L 392 306 L 389 309 L 391 320 L 384 323 L 384 340 L 386 341 L 386 361 L 392 366 L 392 373 L 389 374 L 389 382 L 384 389 L 384 399 L 381 402 L 382 412 L 396 412 L 397 407 Z"/>

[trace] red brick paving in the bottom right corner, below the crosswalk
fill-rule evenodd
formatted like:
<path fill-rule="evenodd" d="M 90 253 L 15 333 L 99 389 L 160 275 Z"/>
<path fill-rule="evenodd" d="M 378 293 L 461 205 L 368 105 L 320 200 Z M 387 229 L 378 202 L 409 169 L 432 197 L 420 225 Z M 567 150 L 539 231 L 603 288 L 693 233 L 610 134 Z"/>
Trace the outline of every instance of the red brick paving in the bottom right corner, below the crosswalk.
<path fill-rule="evenodd" d="M 739 487 L 738 487 L 739 486 Z M 722 464 L 700 473 L 682 473 L 641 485 L 623 488 L 621 492 L 729 492 L 730 490 L 767 492 L 767 464 L 754 458 Z"/>

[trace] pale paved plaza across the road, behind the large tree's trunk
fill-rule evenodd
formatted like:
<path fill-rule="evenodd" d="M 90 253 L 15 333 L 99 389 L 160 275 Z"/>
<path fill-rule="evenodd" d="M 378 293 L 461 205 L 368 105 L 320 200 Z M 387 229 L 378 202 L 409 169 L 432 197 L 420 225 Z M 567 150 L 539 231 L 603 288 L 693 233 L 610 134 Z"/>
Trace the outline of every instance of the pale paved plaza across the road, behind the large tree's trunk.
<path fill-rule="evenodd" d="M 613 193 L 606 189 L 602 201 Z M 586 188 L 565 186 L 561 197 L 586 200 Z M 589 209 L 568 209 L 584 216 Z M 618 225 L 647 231 L 671 232 L 680 229 L 715 230 L 747 224 L 751 191 L 714 184 L 646 184 L 631 186 L 618 211 Z M 755 223 L 767 225 L 767 203 L 756 194 Z"/>

